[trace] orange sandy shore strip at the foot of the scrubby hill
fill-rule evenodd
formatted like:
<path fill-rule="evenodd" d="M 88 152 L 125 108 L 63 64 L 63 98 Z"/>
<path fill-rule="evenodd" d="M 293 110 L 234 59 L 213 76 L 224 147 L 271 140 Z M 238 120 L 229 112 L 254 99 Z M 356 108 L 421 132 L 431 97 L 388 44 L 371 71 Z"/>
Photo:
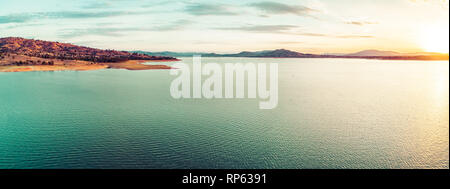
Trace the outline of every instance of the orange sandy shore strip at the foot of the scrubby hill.
<path fill-rule="evenodd" d="M 174 61 L 174 60 L 170 60 Z M 32 72 L 32 71 L 88 71 L 100 69 L 126 69 L 126 70 L 153 70 L 153 69 L 171 69 L 166 65 L 145 65 L 144 62 L 170 62 L 170 61 L 149 61 L 149 60 L 130 60 L 120 63 L 98 63 L 89 62 L 56 62 L 55 65 L 24 65 L 24 66 L 2 66 L 0 72 Z"/>

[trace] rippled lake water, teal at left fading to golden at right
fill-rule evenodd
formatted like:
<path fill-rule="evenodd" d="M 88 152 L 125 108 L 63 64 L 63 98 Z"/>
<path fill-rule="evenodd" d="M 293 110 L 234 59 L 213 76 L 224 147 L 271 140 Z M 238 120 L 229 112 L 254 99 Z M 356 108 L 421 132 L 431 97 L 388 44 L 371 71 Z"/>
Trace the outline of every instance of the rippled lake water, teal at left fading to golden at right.
<path fill-rule="evenodd" d="M 0 168 L 449 168 L 448 61 L 203 62 L 279 63 L 278 107 L 173 99 L 168 70 L 0 73 Z"/>

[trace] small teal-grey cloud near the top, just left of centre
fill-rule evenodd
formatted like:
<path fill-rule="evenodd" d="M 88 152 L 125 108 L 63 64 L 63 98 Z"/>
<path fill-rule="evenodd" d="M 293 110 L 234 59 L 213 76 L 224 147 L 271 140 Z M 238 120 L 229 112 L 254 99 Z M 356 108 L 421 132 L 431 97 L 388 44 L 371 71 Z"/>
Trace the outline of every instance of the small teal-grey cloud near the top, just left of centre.
<path fill-rule="evenodd" d="M 195 16 L 239 14 L 233 10 L 233 7 L 222 4 L 191 4 L 186 7 L 185 11 Z"/>

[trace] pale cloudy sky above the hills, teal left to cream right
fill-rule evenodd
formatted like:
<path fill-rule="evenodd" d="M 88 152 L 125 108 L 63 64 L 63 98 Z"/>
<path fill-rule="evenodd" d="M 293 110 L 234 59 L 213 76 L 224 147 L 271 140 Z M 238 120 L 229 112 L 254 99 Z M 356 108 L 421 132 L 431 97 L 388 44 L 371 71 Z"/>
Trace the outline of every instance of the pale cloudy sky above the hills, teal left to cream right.
<path fill-rule="evenodd" d="M 448 53 L 449 0 L 0 0 L 0 37 L 153 52 Z"/>

